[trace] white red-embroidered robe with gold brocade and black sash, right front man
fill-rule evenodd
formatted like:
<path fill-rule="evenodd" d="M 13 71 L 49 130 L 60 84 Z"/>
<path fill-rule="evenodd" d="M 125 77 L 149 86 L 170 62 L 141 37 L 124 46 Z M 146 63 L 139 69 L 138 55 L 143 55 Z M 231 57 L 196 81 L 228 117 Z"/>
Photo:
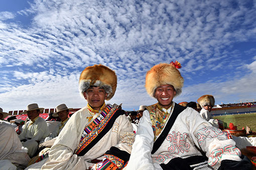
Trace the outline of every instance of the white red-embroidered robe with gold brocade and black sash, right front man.
<path fill-rule="evenodd" d="M 169 109 L 159 104 L 147 109 L 143 112 L 126 169 L 162 170 L 176 165 L 217 169 L 221 160 L 241 160 L 235 142 L 193 108 L 173 102 Z M 170 128 L 171 121 L 174 122 Z"/>

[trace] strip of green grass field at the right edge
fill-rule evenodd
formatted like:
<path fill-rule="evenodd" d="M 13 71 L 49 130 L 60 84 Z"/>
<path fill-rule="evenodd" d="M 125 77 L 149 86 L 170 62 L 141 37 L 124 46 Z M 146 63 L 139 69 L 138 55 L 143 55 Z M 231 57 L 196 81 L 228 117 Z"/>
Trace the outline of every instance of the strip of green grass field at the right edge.
<path fill-rule="evenodd" d="M 227 126 L 231 122 L 237 126 L 237 129 L 242 129 L 242 127 L 246 129 L 246 125 L 247 125 L 250 127 L 252 131 L 256 131 L 256 113 L 221 115 L 221 116 L 214 116 L 214 119 L 220 119 L 226 122 Z"/>

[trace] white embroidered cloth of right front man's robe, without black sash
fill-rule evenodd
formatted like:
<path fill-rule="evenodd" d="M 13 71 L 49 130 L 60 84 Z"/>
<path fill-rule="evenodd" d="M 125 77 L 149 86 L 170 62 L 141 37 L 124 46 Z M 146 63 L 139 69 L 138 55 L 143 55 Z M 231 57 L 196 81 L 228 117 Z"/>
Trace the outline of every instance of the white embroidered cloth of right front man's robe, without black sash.
<path fill-rule="evenodd" d="M 190 107 L 187 107 L 178 115 L 160 148 L 154 154 L 151 154 L 154 137 L 150 113 L 145 110 L 140 120 L 126 169 L 162 169 L 159 166 L 161 163 L 166 164 L 175 157 L 186 158 L 193 155 L 202 155 L 201 150 L 206 153 L 207 157 L 210 157 L 208 164 L 215 169 L 219 167 L 222 159 L 240 160 L 240 150 L 234 147 L 235 142 L 232 139 L 227 139 L 220 129 L 212 127 L 208 121 L 202 119 L 198 112 Z M 230 154 L 224 152 L 222 159 L 213 156 L 215 149 L 224 148 L 225 150 L 227 146 L 231 150 L 238 150 L 238 153 L 235 151 Z M 208 166 L 203 169 L 210 168 Z"/>

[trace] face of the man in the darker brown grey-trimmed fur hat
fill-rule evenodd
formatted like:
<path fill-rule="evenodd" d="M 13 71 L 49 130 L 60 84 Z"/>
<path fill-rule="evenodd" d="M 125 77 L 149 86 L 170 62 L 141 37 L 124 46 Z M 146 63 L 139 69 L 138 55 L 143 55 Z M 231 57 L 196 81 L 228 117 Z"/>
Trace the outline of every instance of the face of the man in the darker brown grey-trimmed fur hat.
<path fill-rule="evenodd" d="M 83 92 L 83 96 L 93 109 L 100 110 L 107 97 L 107 93 L 103 88 L 92 86 Z"/>

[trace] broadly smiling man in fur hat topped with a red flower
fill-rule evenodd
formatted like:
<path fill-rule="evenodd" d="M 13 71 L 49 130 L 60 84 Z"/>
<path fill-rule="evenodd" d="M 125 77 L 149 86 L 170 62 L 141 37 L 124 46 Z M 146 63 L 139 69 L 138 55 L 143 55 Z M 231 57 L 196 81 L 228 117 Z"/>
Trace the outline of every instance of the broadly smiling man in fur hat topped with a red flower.
<path fill-rule="evenodd" d="M 173 101 L 184 82 L 176 67 L 177 61 L 161 63 L 146 74 L 147 92 L 158 102 L 143 112 L 126 169 L 251 169 L 232 139 Z"/>

